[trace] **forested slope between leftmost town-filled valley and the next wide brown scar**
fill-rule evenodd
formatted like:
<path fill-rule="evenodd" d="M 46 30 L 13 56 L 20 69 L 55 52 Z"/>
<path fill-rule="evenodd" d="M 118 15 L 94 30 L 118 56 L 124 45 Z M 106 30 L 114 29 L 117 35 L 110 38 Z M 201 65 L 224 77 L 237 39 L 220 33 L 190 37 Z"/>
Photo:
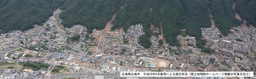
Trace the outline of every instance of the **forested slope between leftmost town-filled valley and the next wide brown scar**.
<path fill-rule="evenodd" d="M 64 27 L 81 24 L 89 29 L 103 29 L 107 20 L 112 16 L 124 0 L 72 0 L 61 7 L 60 18 Z"/>

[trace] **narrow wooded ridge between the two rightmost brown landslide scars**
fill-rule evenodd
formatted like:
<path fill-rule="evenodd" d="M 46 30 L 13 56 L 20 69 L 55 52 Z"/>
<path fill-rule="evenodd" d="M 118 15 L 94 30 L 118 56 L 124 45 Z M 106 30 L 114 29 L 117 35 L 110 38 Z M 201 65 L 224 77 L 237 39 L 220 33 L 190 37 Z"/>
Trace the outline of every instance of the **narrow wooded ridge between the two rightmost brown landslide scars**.
<path fill-rule="evenodd" d="M 209 8 L 217 23 L 215 26 L 220 30 L 221 34 L 227 36 L 229 29 L 234 25 L 234 12 L 230 10 L 232 2 L 225 1 L 226 4 L 224 5 L 222 0 L 209 0 L 209 2 Z"/>

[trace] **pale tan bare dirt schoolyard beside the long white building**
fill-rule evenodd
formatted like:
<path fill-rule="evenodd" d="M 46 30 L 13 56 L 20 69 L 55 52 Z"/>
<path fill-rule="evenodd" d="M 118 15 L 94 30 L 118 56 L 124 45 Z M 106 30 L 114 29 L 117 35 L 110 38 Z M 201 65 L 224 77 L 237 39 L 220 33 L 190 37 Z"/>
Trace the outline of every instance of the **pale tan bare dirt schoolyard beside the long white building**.
<path fill-rule="evenodd" d="M 156 63 L 157 67 L 169 67 L 169 64 L 171 63 L 171 61 L 169 60 L 165 60 L 165 59 L 155 59 L 154 61 Z"/>

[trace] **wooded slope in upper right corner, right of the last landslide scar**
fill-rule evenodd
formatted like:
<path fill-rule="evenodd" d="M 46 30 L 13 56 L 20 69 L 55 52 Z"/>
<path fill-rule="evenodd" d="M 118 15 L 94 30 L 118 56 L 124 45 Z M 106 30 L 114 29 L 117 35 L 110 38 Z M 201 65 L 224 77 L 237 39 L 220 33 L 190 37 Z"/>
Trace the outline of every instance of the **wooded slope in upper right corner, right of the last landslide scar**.
<path fill-rule="evenodd" d="M 240 17 L 246 19 L 246 23 L 256 26 L 256 0 L 235 0 L 235 3 L 235 11 Z"/>

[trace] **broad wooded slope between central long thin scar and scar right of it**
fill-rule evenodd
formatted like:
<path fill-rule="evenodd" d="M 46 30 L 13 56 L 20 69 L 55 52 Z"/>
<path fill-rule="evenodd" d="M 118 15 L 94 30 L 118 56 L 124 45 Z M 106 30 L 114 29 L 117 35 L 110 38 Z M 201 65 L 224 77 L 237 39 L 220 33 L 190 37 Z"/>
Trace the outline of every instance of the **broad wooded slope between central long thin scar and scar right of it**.
<path fill-rule="evenodd" d="M 210 27 L 210 15 L 203 1 L 198 0 L 166 0 L 158 1 L 164 37 L 169 45 L 180 46 L 177 41 L 180 29 L 186 34 L 201 40 L 200 27 Z"/>

